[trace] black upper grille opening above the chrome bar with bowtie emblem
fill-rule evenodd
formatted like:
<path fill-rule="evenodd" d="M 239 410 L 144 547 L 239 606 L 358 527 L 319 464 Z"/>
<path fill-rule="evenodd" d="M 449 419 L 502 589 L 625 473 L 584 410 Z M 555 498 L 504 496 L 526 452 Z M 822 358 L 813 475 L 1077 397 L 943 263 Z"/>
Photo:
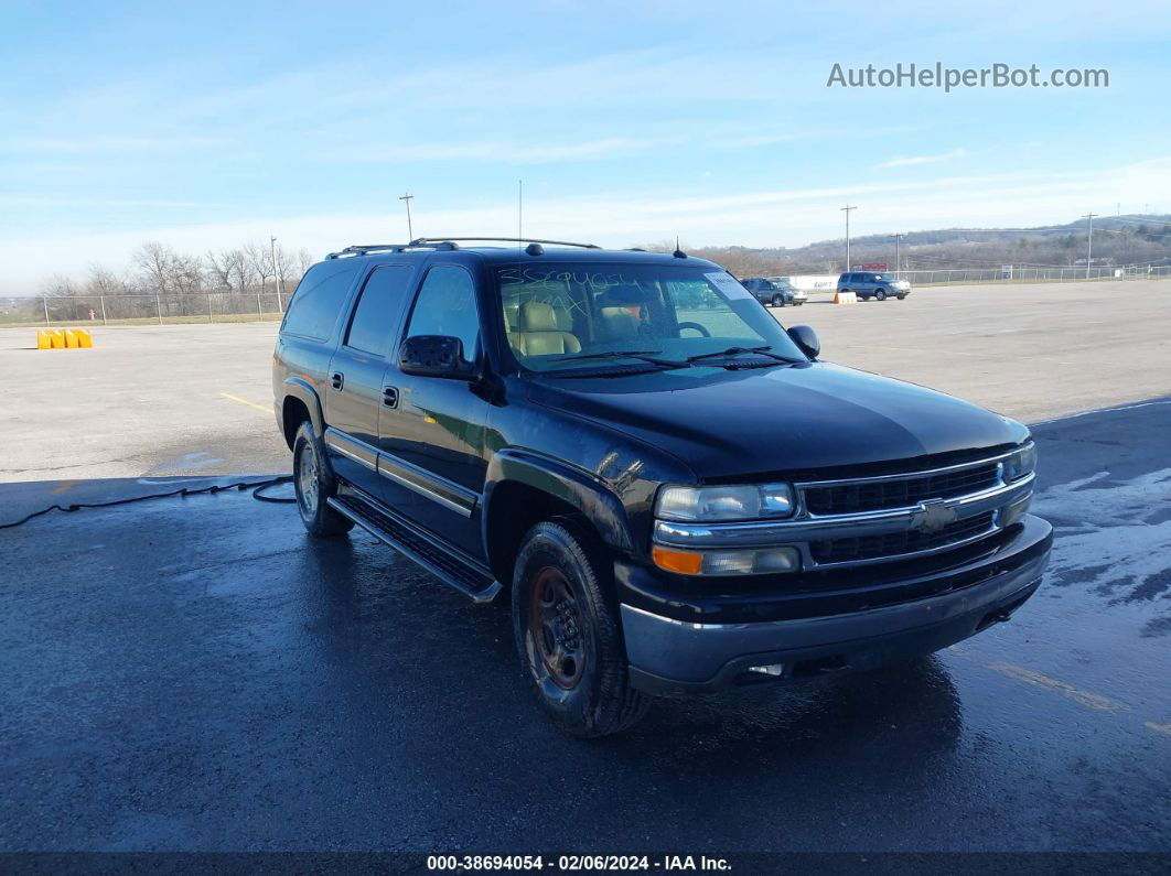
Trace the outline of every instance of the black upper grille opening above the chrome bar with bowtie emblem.
<path fill-rule="evenodd" d="M 951 498 L 995 487 L 999 463 L 909 476 L 897 481 L 871 481 L 827 487 L 806 487 L 806 509 L 813 515 L 843 515 L 906 508 L 924 499 Z"/>

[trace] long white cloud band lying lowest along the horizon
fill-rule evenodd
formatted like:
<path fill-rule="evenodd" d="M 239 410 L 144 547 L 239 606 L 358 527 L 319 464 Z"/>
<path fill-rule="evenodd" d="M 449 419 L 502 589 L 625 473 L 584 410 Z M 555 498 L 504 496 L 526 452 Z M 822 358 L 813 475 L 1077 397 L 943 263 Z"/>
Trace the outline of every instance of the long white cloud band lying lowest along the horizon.
<path fill-rule="evenodd" d="M 910 182 L 843 182 L 835 186 L 766 189 L 726 195 L 669 192 L 594 193 L 525 201 L 525 227 L 536 236 L 587 240 L 629 247 L 678 234 L 693 244 L 801 246 L 840 237 L 838 207 L 857 202 L 856 235 L 941 227 L 1028 226 L 1068 221 L 1087 209 L 1110 212 L 1116 201 L 1141 204 L 1150 192 L 1171 191 L 1171 156 L 1123 167 L 1070 173 L 1002 173 Z M 512 199 L 468 201 L 429 209 L 416 202 L 415 232 L 424 236 L 508 234 L 516 223 Z M 0 261 L 7 265 L 0 295 L 33 295 L 44 277 L 81 276 L 98 262 L 124 265 L 144 240 L 180 250 L 267 240 L 275 234 L 292 249 L 316 256 L 355 242 L 406 236 L 399 211 L 357 214 L 256 215 L 237 221 L 43 237 L 7 234 Z"/>

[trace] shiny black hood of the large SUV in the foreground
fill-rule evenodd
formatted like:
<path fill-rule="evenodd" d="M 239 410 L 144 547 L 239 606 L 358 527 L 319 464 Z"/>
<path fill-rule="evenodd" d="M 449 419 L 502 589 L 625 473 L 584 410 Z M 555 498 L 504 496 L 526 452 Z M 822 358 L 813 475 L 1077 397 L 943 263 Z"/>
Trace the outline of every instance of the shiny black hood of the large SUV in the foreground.
<path fill-rule="evenodd" d="M 700 480 L 909 460 L 1028 435 L 951 395 L 827 363 L 535 378 L 528 394 L 660 448 Z"/>

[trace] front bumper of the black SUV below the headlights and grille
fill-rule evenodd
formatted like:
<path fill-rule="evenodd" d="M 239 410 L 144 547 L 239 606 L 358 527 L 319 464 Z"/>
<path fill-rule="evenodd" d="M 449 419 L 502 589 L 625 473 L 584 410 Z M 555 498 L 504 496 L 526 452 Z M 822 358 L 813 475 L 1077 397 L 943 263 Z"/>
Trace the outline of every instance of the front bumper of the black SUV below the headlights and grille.
<path fill-rule="evenodd" d="M 870 669 L 930 654 L 1007 620 L 1040 585 L 1052 543 L 1052 526 L 1029 515 L 1013 540 L 991 558 L 936 575 L 931 584 L 937 595 L 828 616 L 704 623 L 624 600 L 631 682 L 651 694 L 705 692 L 752 680 Z M 995 573 L 980 579 L 985 566 Z M 972 580 L 977 582 L 967 584 Z M 778 675 L 752 669 L 766 665 Z"/>

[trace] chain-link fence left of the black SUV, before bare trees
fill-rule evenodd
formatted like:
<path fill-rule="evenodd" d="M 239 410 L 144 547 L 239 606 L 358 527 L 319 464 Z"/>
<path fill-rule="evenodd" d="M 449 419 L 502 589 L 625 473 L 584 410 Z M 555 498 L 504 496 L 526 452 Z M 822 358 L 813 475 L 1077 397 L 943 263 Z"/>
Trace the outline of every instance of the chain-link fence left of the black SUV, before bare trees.
<path fill-rule="evenodd" d="M 0 325 L 166 325 L 279 320 L 281 292 L 0 298 Z"/>

